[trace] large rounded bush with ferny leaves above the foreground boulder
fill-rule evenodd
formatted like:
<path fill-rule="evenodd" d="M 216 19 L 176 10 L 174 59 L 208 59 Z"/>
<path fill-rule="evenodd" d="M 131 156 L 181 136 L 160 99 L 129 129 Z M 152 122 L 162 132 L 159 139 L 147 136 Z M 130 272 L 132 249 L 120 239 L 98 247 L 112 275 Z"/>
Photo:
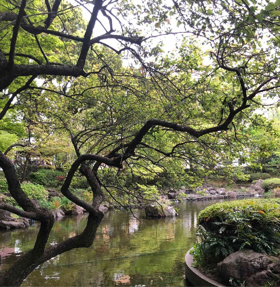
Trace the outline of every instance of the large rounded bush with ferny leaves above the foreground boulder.
<path fill-rule="evenodd" d="M 280 199 L 243 199 L 211 205 L 198 216 L 195 263 L 206 266 L 243 248 L 279 254 Z"/>

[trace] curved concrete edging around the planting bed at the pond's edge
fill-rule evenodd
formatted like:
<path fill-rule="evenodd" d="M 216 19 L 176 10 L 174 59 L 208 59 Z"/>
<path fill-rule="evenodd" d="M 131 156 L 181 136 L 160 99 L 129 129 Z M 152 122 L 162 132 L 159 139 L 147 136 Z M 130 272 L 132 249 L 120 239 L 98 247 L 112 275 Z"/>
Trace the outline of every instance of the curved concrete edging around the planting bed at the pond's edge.
<path fill-rule="evenodd" d="M 192 249 L 192 248 L 191 248 Z M 193 286 L 225 286 L 215 280 L 212 280 L 198 271 L 196 268 L 192 267 L 193 264 L 193 255 L 189 252 L 191 249 L 186 253 L 185 256 L 185 274 L 186 279 L 188 279 Z"/>

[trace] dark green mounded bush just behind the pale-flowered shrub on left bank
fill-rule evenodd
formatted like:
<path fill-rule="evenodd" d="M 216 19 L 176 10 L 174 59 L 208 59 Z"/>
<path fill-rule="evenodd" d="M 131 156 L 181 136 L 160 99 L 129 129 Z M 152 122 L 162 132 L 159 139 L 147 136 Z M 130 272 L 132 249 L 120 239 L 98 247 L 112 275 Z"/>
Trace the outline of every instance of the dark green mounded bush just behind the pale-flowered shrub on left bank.
<path fill-rule="evenodd" d="M 65 173 L 59 170 L 40 169 L 37 172 L 31 172 L 29 180 L 45 187 L 57 187 L 64 182 L 57 177 L 65 177 Z"/>

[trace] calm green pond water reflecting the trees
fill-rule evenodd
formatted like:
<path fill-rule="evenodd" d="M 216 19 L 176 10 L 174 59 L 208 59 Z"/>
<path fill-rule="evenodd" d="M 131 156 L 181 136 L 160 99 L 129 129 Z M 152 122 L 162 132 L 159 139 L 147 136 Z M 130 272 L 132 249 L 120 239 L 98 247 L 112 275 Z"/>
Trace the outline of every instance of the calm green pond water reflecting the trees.
<path fill-rule="evenodd" d="M 105 214 L 90 248 L 73 249 L 35 269 L 22 286 L 185 286 L 184 257 L 195 243 L 197 215 L 222 200 L 177 203 L 179 216 L 147 219 L 144 210 Z M 83 231 L 87 215 L 55 222 L 48 244 Z M 31 249 L 39 225 L 1 231 L 0 272 Z"/>

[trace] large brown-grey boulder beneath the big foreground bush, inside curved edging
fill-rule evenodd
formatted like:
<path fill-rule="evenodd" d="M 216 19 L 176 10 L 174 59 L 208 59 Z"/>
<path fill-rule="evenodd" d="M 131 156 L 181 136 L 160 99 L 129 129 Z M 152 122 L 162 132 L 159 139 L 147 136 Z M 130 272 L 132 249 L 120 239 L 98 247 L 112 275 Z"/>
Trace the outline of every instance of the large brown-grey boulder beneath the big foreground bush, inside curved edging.
<path fill-rule="evenodd" d="M 229 282 L 245 281 L 246 286 L 264 286 L 265 282 L 280 280 L 280 260 L 277 257 L 242 249 L 217 264 L 220 277 Z M 277 285 L 279 286 L 279 285 Z"/>

